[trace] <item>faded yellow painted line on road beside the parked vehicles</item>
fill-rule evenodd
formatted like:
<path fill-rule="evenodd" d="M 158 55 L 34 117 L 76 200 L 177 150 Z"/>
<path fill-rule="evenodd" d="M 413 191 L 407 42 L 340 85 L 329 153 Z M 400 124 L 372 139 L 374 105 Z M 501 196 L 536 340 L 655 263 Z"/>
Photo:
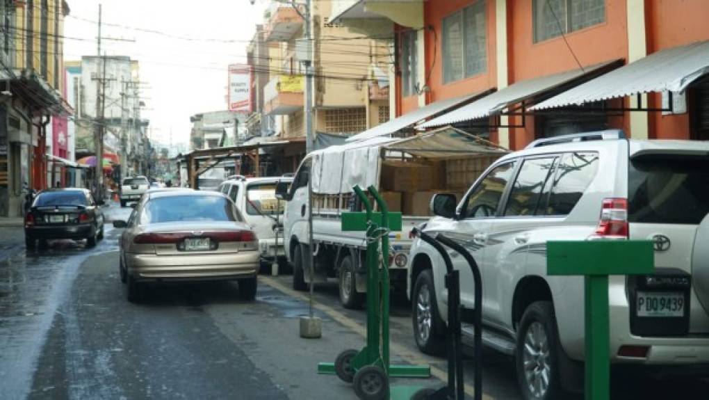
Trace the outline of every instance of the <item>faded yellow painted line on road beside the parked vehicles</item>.
<path fill-rule="evenodd" d="M 288 296 L 294 297 L 296 299 L 300 299 L 302 301 L 308 301 L 308 296 L 305 294 L 301 293 L 300 291 L 295 291 L 289 287 L 284 286 L 277 280 L 271 278 L 271 277 L 264 277 L 262 275 L 259 275 L 259 280 L 264 282 L 264 284 L 269 285 L 270 287 L 281 291 L 281 293 L 287 294 Z M 318 303 L 315 299 L 313 299 L 313 307 L 316 309 L 322 311 L 323 313 L 327 314 L 330 318 L 333 318 L 333 320 L 337 321 L 338 323 L 342 324 L 343 326 L 346 326 L 347 328 L 350 328 L 354 332 L 358 333 L 362 337 L 365 335 L 365 327 L 359 325 L 359 323 L 353 321 L 350 317 L 345 316 L 345 314 L 341 313 L 340 311 L 337 311 L 333 309 L 330 306 L 326 306 L 325 304 Z M 406 362 L 412 364 L 412 365 L 418 365 L 418 364 L 427 364 L 428 360 L 425 360 L 423 357 L 418 355 L 417 353 L 408 350 L 408 348 L 405 348 L 403 345 L 399 345 L 398 343 L 390 343 L 389 348 L 396 353 L 399 357 L 403 358 L 406 360 Z M 448 382 L 448 374 L 444 370 L 441 370 L 438 367 L 433 367 L 431 366 L 431 374 L 434 377 L 437 377 L 440 379 L 442 382 Z M 464 385 L 464 391 L 465 394 L 468 396 L 474 396 L 475 394 L 475 389 L 469 384 Z M 493 397 L 483 394 L 483 399 L 484 400 L 494 400 Z"/>

